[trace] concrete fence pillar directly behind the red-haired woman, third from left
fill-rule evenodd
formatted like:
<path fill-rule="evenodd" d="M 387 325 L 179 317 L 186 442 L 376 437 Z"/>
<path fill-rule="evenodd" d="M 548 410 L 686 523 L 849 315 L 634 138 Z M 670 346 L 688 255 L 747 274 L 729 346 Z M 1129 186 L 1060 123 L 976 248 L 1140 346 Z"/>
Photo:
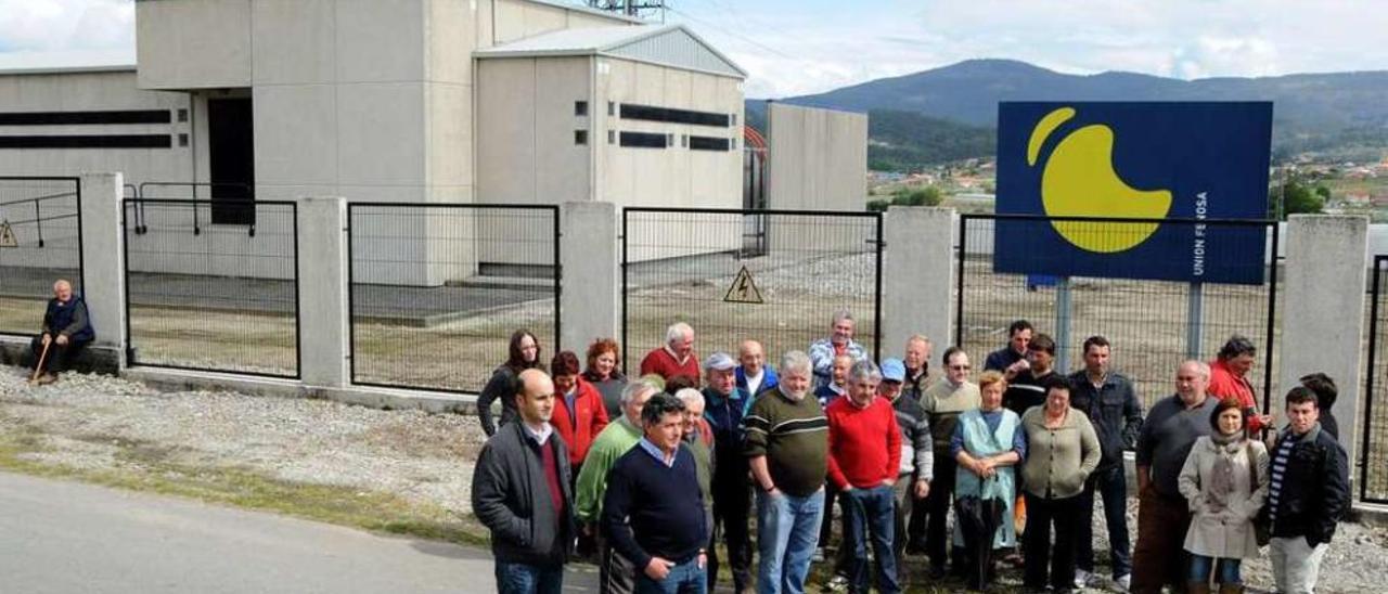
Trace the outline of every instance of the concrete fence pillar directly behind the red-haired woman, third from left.
<path fill-rule="evenodd" d="M 583 357 L 594 339 L 622 336 L 622 262 L 616 205 L 564 203 L 559 207 L 559 348 Z M 557 350 L 557 351 L 558 351 Z"/>

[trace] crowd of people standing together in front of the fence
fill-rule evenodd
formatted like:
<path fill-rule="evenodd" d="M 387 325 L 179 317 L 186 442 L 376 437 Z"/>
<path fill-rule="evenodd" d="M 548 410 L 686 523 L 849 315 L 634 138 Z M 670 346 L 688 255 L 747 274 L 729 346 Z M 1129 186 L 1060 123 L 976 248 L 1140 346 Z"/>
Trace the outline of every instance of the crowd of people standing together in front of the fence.
<path fill-rule="evenodd" d="M 830 336 L 772 368 L 756 340 L 700 359 L 675 323 L 630 377 L 609 339 L 583 369 L 569 351 L 545 366 L 518 330 L 479 397 L 490 439 L 472 484 L 498 590 L 558 593 L 564 565 L 589 557 L 604 593 L 705 593 L 720 565 L 737 593 L 802 593 L 813 563 L 831 586 L 897 593 L 923 555 L 931 582 L 983 590 L 1015 563 L 1027 588 L 1073 591 L 1094 579 L 1098 495 L 1123 590 L 1238 593 L 1241 563 L 1266 548 L 1278 591 L 1314 591 L 1349 508 L 1326 375 L 1287 393 L 1277 427 L 1242 336 L 1180 364 L 1173 394 L 1144 411 L 1102 336 L 1065 373 L 1060 346 L 1017 321 L 980 373 L 949 347 L 933 375 L 924 336 L 879 365 L 854 330 L 837 312 Z"/>

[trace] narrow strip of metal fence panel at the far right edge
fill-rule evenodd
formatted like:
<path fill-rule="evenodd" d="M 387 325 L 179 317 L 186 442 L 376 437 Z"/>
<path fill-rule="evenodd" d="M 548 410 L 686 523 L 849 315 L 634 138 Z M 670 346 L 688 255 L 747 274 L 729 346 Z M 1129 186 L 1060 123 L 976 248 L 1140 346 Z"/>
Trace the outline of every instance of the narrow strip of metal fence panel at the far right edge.
<path fill-rule="evenodd" d="M 1364 373 L 1363 447 L 1359 450 L 1359 497 L 1373 504 L 1388 504 L 1388 362 L 1382 348 L 1388 344 L 1388 254 L 1374 255 L 1374 275 L 1369 286 L 1369 358 Z"/>

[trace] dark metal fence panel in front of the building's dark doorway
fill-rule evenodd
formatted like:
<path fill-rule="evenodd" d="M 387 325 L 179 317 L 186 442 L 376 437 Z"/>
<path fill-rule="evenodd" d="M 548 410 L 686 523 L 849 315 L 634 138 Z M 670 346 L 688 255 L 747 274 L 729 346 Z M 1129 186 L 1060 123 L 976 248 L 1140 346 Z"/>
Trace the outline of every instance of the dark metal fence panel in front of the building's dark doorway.
<path fill-rule="evenodd" d="M 298 377 L 298 228 L 293 201 L 211 222 L 207 200 L 126 198 L 129 361 Z"/>

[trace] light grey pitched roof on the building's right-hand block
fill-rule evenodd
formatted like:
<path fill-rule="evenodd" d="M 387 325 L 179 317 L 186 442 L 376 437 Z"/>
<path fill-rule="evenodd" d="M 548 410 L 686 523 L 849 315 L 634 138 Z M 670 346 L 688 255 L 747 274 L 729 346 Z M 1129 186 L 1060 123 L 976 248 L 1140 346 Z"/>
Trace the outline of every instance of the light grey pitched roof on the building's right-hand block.
<path fill-rule="evenodd" d="M 747 71 L 684 25 L 559 29 L 473 53 L 477 58 L 609 56 L 747 78 Z"/>

